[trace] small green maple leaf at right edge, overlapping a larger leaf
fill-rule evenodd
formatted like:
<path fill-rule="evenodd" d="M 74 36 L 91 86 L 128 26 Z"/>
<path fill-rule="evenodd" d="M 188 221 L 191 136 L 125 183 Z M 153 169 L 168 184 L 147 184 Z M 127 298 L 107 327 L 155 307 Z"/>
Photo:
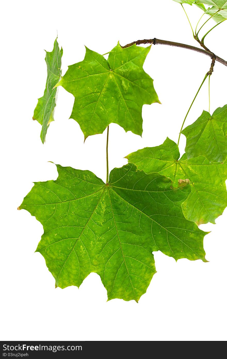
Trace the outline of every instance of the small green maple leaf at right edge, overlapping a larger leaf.
<path fill-rule="evenodd" d="M 203 155 L 210 162 L 224 162 L 227 158 L 227 105 L 218 107 L 212 116 L 203 111 L 181 133 L 187 139 L 185 153 L 188 158 Z"/>

